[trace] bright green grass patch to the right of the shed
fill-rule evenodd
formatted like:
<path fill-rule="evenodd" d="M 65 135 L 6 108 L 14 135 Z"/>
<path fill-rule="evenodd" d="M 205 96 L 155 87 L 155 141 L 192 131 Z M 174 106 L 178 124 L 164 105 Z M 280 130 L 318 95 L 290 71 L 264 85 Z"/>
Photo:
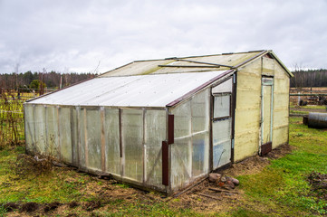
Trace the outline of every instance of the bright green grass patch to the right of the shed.
<path fill-rule="evenodd" d="M 301 123 L 302 118 L 291 118 L 290 145 L 296 148 L 291 154 L 272 160 L 259 174 L 238 177 L 245 201 L 254 212 L 264 214 L 271 209 L 273 215 L 290 216 L 327 213 L 327 202 L 310 195 L 306 180 L 313 171 L 327 174 L 327 131 Z M 246 210 L 241 207 L 239 211 Z"/>

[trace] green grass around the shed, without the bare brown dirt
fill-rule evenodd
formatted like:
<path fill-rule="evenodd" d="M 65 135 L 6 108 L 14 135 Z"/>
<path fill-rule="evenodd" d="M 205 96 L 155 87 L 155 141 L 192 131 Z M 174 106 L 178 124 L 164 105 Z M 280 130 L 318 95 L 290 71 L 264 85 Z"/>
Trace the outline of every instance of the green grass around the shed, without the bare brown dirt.
<path fill-rule="evenodd" d="M 213 212 L 217 216 L 319 216 L 326 215 L 327 202 L 310 193 L 307 176 L 314 172 L 327 174 L 327 131 L 302 125 L 302 118 L 290 119 L 291 154 L 271 161 L 258 174 L 242 175 L 239 188 L 245 193 L 236 201 L 237 208 Z M 5 216 L 1 203 L 90 203 L 101 201 L 101 209 L 92 212 L 81 207 L 67 208 L 58 215 L 75 213 L 81 216 L 203 216 L 189 208 L 153 201 L 127 184 L 99 180 L 68 168 L 35 175 L 15 173 L 16 157 L 24 153 L 23 146 L 0 150 L 0 216 Z M 107 195 L 106 191 L 117 194 Z M 130 193 L 130 198 L 120 193 Z M 153 196 L 159 196 L 153 193 Z M 179 200 L 179 199 L 178 199 Z M 210 215 L 211 215 L 210 214 Z"/>

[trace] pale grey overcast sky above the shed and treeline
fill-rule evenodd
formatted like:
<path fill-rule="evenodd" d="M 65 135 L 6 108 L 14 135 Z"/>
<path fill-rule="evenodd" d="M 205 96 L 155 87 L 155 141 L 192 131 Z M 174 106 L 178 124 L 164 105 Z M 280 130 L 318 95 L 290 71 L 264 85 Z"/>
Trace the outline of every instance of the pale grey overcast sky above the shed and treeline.
<path fill-rule="evenodd" d="M 0 73 L 273 50 L 327 69 L 327 0 L 0 0 Z"/>

